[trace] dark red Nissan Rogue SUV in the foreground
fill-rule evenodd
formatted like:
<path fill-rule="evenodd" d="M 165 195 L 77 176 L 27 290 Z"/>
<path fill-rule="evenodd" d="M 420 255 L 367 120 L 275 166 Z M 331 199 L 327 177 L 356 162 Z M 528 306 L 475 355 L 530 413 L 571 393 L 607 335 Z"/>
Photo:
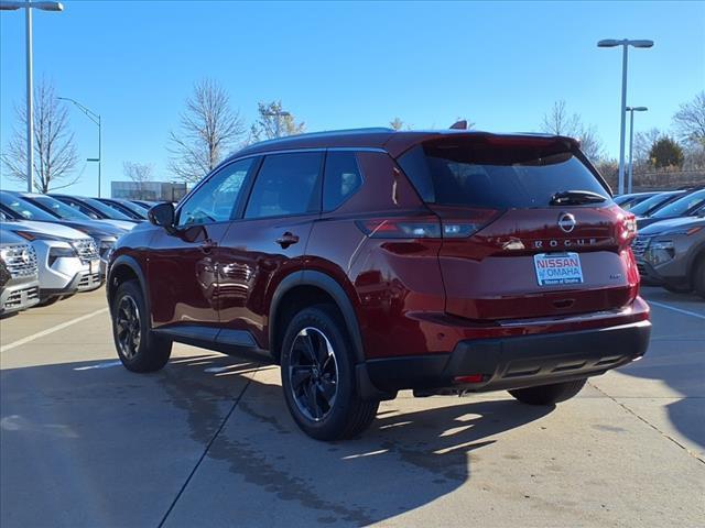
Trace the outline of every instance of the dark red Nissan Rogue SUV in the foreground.
<path fill-rule="evenodd" d="M 278 363 L 317 439 L 400 389 L 552 405 L 648 346 L 634 218 L 568 138 L 291 136 L 149 216 L 111 255 L 124 366 L 161 369 L 173 341 Z"/>

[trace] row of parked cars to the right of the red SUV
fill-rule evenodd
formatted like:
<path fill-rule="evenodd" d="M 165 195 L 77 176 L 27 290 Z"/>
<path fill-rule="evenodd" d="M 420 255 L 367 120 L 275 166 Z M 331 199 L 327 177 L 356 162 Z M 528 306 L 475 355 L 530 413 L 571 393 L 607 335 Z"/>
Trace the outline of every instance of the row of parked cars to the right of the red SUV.
<path fill-rule="evenodd" d="M 631 244 L 642 284 L 705 298 L 705 186 L 622 195 L 637 217 Z"/>

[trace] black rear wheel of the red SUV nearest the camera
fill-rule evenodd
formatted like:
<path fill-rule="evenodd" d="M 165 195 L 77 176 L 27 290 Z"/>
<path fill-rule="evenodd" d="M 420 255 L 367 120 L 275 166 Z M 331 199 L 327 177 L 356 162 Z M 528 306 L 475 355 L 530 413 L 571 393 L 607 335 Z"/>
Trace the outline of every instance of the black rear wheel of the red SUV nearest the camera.
<path fill-rule="evenodd" d="M 369 427 L 379 402 L 357 392 L 352 343 L 335 306 L 301 310 L 282 341 L 282 388 L 294 421 L 316 440 L 351 438 Z"/>

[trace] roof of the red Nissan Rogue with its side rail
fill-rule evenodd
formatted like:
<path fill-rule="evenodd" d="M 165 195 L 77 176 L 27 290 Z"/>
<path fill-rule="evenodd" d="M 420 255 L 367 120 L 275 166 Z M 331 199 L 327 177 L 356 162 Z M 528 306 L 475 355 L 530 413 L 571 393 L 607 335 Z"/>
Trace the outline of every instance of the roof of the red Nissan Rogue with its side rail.
<path fill-rule="evenodd" d="M 478 130 L 456 129 L 417 131 L 395 131 L 393 129 L 384 128 L 352 129 L 289 135 L 285 138 L 261 141 L 236 152 L 229 156 L 228 160 L 252 154 L 263 154 L 272 151 L 329 147 L 383 148 L 389 152 L 392 157 L 398 157 L 419 143 L 442 136 L 546 138 L 565 140 L 577 144 L 577 141 L 572 138 L 523 132 L 497 134 Z"/>

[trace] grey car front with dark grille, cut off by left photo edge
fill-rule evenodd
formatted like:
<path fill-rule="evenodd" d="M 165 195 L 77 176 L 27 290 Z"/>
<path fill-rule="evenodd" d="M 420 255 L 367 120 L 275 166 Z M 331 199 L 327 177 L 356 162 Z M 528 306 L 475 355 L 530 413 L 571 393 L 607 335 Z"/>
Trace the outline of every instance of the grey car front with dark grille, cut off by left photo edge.
<path fill-rule="evenodd" d="M 36 253 L 26 240 L 0 230 L 0 316 L 40 301 Z"/>

